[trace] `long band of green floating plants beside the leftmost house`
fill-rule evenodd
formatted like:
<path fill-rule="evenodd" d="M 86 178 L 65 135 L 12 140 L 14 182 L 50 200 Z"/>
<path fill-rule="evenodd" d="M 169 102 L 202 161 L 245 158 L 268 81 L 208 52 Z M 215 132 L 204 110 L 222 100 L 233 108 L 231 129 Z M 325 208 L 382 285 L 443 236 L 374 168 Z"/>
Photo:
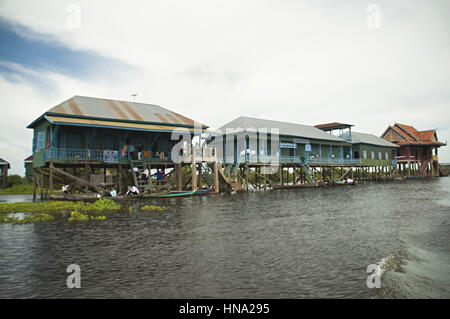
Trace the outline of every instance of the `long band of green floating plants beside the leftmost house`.
<path fill-rule="evenodd" d="M 48 201 L 40 203 L 4 203 L 0 204 L 0 213 L 38 213 L 59 211 L 117 211 L 120 204 L 110 199 L 99 199 L 95 203 Z"/>

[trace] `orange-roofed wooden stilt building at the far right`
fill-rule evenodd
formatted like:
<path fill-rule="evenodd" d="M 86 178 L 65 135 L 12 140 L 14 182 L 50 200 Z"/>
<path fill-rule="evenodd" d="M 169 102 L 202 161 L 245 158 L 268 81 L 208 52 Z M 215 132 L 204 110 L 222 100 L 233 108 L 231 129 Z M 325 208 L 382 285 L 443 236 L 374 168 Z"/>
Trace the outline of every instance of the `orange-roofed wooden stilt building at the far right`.
<path fill-rule="evenodd" d="M 400 165 L 417 169 L 418 175 L 444 175 L 439 165 L 438 148 L 447 144 L 438 140 L 436 130 L 418 131 L 410 125 L 395 123 L 381 134 L 381 138 L 399 146 L 396 160 Z"/>

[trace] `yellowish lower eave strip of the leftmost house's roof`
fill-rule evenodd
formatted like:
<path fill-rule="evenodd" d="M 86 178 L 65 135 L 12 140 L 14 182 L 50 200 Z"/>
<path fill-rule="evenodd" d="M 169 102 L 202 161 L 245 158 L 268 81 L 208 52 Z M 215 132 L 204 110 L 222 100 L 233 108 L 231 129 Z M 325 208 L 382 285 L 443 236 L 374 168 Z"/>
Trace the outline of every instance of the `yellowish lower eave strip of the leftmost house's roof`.
<path fill-rule="evenodd" d="M 142 123 L 126 123 L 126 122 L 116 122 L 116 121 L 102 121 L 87 118 L 74 118 L 74 117 L 64 117 L 64 116 L 52 116 L 47 115 L 46 118 L 54 124 L 65 124 L 65 125 L 78 125 L 78 126 L 91 126 L 91 127 L 111 127 L 120 129 L 135 129 L 142 131 L 166 131 L 172 132 L 174 130 L 181 130 L 185 132 L 194 132 L 194 128 L 190 127 L 175 127 L 169 125 L 158 125 L 158 124 L 142 124 Z M 214 133 L 213 131 L 202 130 L 202 133 Z"/>

